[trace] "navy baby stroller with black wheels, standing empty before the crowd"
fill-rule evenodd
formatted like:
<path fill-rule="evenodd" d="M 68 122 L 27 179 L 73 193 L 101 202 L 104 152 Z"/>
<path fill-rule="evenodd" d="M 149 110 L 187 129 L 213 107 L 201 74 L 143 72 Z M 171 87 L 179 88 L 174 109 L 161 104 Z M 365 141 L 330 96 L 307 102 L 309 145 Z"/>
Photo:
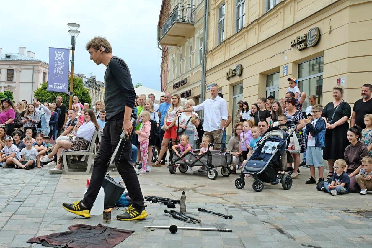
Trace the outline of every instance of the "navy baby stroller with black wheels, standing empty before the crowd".
<path fill-rule="evenodd" d="M 279 126 L 290 126 L 292 132 L 288 134 Z M 263 183 L 275 182 L 278 177 L 283 189 L 292 187 L 291 175 L 285 174 L 287 163 L 293 162 L 293 157 L 288 151 L 289 137 L 293 135 L 297 126 L 294 124 L 280 124 L 267 130 L 262 139 L 257 142 L 256 150 L 243 165 L 240 176 L 235 180 L 235 187 L 243 189 L 245 186 L 244 174 L 253 176 L 253 190 L 262 191 Z M 287 142 L 288 141 L 288 142 Z M 278 173 L 278 171 L 282 173 Z"/>

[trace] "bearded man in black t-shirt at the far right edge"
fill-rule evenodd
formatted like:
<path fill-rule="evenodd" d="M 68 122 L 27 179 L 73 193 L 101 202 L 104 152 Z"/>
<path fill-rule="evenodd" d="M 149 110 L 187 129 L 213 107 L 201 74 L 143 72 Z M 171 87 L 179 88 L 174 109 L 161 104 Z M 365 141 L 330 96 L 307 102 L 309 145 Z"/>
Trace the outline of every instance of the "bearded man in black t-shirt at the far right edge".
<path fill-rule="evenodd" d="M 360 128 L 365 128 L 364 115 L 372 114 L 372 85 L 363 84 L 362 86 L 362 99 L 355 102 L 353 107 L 353 114 L 350 120 L 350 126 L 359 125 Z"/>

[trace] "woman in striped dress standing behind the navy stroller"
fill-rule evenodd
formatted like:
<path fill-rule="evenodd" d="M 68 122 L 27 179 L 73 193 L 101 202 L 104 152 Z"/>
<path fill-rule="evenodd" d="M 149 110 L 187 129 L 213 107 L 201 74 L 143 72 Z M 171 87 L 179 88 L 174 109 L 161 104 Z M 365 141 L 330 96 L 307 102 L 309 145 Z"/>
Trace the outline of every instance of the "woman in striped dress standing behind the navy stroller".
<path fill-rule="evenodd" d="M 296 109 L 296 99 L 292 97 L 285 99 L 285 107 L 287 109 L 287 111 L 285 112 L 285 115 L 287 116 L 287 123 L 294 124 L 297 126 L 295 133 L 296 136 L 300 138 L 299 139 L 299 142 L 301 143 L 300 153 L 304 153 L 306 150 L 305 136 L 304 132 L 302 131 L 302 128 L 305 126 L 304 115 L 302 114 L 301 111 Z M 291 177 L 298 178 L 297 170 L 300 164 L 300 154 L 293 153 L 292 155 L 294 160 L 294 168 Z M 292 164 L 288 164 L 288 167 L 292 168 Z"/>

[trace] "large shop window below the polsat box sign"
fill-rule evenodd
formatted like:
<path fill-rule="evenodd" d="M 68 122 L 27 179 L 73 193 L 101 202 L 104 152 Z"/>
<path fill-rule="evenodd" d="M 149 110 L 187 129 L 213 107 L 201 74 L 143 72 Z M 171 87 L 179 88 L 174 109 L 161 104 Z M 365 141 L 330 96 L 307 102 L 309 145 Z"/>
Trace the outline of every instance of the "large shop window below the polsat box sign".
<path fill-rule="evenodd" d="M 298 88 L 301 92 L 306 92 L 307 96 L 315 95 L 320 105 L 323 105 L 323 63 L 324 57 L 322 56 L 298 64 Z M 302 109 L 308 106 L 310 104 L 306 98 Z"/>

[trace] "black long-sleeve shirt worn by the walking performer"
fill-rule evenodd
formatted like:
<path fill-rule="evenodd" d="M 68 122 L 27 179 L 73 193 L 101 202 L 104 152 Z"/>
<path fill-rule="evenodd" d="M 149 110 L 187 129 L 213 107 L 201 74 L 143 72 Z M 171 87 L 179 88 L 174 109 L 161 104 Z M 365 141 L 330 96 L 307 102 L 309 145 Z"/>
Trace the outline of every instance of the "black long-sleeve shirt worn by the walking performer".
<path fill-rule="evenodd" d="M 124 60 L 116 56 L 111 58 L 106 68 L 105 95 L 106 120 L 122 119 L 125 106 L 134 107 L 136 93 L 131 73 Z"/>

